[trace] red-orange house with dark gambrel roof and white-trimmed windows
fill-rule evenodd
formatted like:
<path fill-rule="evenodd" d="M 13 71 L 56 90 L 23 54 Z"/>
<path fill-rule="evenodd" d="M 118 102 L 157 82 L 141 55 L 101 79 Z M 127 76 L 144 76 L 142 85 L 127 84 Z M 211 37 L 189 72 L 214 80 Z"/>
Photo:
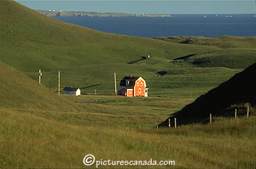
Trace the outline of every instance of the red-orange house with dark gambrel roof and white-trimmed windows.
<path fill-rule="evenodd" d="M 122 96 L 148 96 L 146 81 L 142 77 L 124 77 L 120 81 L 120 89 L 117 95 Z"/>

